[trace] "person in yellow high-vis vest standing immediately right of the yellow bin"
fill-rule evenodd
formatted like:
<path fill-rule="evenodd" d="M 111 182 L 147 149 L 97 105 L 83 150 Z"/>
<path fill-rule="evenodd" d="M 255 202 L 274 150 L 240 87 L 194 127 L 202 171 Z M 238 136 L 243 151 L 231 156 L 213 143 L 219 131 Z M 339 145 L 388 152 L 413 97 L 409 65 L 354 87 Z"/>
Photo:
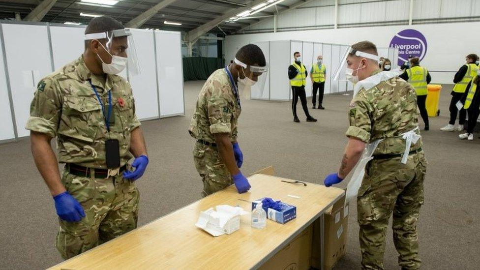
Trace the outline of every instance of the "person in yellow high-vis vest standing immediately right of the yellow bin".
<path fill-rule="evenodd" d="M 440 128 L 442 131 L 462 131 L 463 130 L 463 123 L 465 122 L 465 118 L 467 116 L 467 111 L 465 109 L 460 109 L 460 116 L 458 118 L 458 126 L 453 126 L 455 124 L 455 120 L 457 118 L 457 111 L 458 108 L 456 106 L 457 102 L 465 93 L 467 89 L 468 83 L 477 75 L 477 71 L 479 70 L 478 65 L 475 63 L 477 61 L 478 56 L 476 54 L 469 54 L 465 57 L 466 64 L 462 65 L 460 69 L 455 74 L 453 78 L 453 83 L 455 86 L 451 91 L 451 101 L 450 101 L 450 122 L 448 125 Z"/>

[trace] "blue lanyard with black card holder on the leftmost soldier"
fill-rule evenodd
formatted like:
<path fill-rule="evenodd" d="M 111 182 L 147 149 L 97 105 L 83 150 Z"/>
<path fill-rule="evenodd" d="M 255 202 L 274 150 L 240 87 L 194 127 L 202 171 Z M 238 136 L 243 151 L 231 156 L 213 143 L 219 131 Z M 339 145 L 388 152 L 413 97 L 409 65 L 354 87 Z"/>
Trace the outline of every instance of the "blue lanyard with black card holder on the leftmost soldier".
<path fill-rule="evenodd" d="M 103 106 L 102 99 L 98 94 L 95 86 L 89 80 L 90 86 L 95 92 L 97 96 L 98 103 L 100 103 L 100 107 L 102 108 L 102 115 L 103 120 L 105 121 L 105 126 L 107 127 L 107 132 L 110 136 L 110 124 L 115 123 L 115 117 L 111 120 L 112 116 L 112 91 L 108 91 L 108 112 L 105 114 L 105 107 Z M 115 169 L 120 167 L 120 143 L 117 139 L 108 139 L 105 141 L 105 164 L 107 165 L 107 169 Z"/>

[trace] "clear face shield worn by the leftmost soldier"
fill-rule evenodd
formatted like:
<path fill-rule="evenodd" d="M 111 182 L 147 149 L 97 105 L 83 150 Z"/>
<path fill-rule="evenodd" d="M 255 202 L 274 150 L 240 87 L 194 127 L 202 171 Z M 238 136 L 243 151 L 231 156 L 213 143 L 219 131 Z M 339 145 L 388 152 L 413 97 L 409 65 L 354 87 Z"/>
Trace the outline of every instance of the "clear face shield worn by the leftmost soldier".
<path fill-rule="evenodd" d="M 119 29 L 101 33 L 85 34 L 85 40 L 98 40 L 100 50 L 97 56 L 102 61 L 103 71 L 107 74 L 119 74 L 128 66 L 131 75 L 140 74 L 135 42 L 130 29 Z"/>

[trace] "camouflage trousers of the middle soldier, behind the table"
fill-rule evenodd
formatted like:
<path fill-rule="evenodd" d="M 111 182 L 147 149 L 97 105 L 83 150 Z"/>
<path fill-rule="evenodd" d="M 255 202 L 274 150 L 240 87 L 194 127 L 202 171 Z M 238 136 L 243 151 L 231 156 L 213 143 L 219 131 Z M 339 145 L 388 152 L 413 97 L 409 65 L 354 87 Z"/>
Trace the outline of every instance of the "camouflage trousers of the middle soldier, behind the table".
<path fill-rule="evenodd" d="M 233 179 L 218 155 L 216 147 L 196 142 L 193 149 L 193 161 L 197 172 L 202 177 L 203 197 L 233 184 Z"/>

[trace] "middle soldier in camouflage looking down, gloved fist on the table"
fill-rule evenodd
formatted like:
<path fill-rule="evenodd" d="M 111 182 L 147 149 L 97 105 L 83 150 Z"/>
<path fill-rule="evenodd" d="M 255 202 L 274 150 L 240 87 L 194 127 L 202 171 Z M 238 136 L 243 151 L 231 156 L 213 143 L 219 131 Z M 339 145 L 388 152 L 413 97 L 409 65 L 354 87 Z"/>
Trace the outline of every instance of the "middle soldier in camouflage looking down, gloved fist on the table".
<path fill-rule="evenodd" d="M 193 159 L 203 180 L 202 196 L 233 183 L 240 193 L 250 188 L 240 172 L 243 154 L 237 142 L 241 112 L 238 82 L 256 81 L 260 74 L 252 72 L 250 66 L 265 65 L 262 50 L 253 44 L 246 45 L 237 52 L 235 63 L 210 75 L 198 95 L 188 132 L 196 139 Z"/>

